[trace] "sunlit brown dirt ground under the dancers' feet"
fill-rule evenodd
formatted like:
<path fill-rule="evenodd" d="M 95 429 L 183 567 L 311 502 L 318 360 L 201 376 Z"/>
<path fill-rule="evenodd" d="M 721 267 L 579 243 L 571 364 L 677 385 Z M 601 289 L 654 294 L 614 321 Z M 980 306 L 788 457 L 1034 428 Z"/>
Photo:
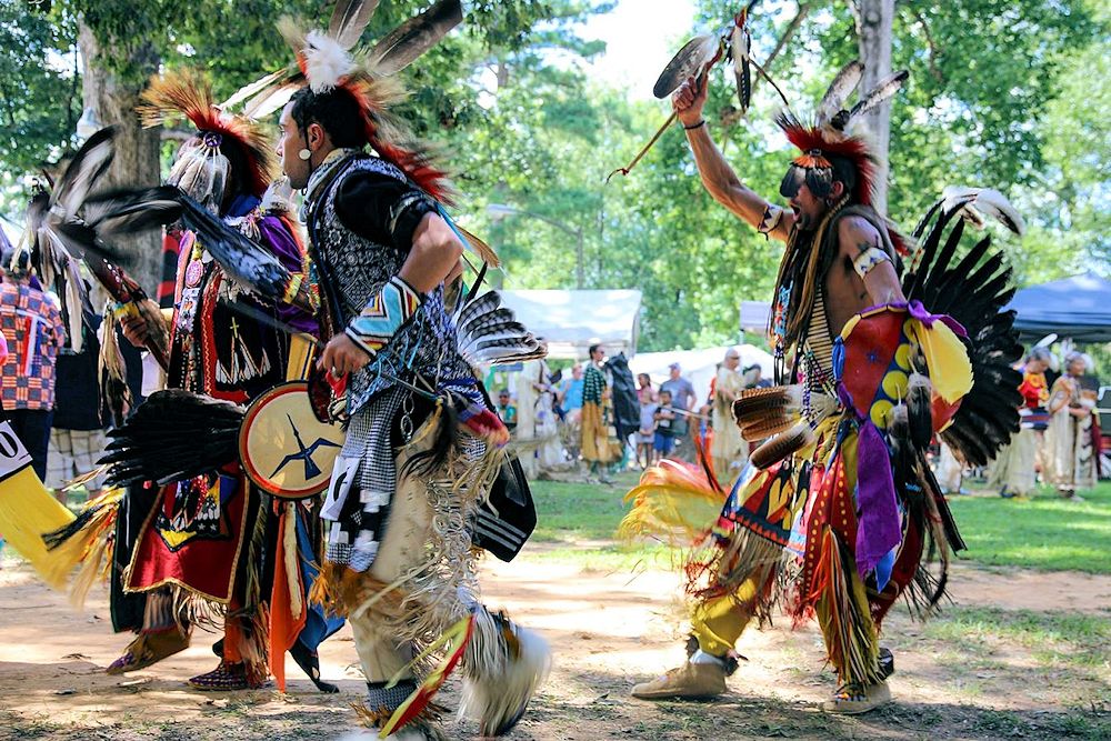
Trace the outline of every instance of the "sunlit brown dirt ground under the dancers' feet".
<path fill-rule="evenodd" d="M 961 607 L 1069 611 L 1111 620 L 1111 578 L 959 568 L 951 581 Z M 897 702 L 858 718 L 815 710 L 832 675 L 813 625 L 789 621 L 749 631 L 748 657 L 730 692 L 708 703 L 648 703 L 630 687 L 683 658 L 673 574 L 637 575 L 523 559 L 490 561 L 487 602 L 541 630 L 556 665 L 511 739 L 999 739 L 1108 738 L 1111 671 L 1102 665 L 1047 664 L 1037 648 L 993 639 L 975 645 L 942 640 L 893 613 L 884 643 L 895 653 Z M 127 643 L 113 635 L 102 591 L 83 612 L 21 567 L 0 571 L 0 739 L 337 739 L 354 731 L 350 703 L 364 684 L 351 633 L 321 651 L 322 674 L 342 688 L 317 693 L 292 661 L 289 692 L 202 693 L 183 680 L 211 669 L 214 640 L 147 671 L 109 677 Z M 441 699 L 454 707 L 452 680 Z M 449 738 L 473 738 L 469 722 L 446 720 Z M 370 738 L 364 734 L 360 738 Z"/>

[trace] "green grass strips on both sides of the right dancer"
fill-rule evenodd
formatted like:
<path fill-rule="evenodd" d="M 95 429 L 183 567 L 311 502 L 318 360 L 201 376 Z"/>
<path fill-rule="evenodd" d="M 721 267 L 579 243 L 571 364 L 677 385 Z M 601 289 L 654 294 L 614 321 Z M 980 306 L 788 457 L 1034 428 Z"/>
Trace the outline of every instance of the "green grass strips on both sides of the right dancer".
<path fill-rule="evenodd" d="M 628 511 L 622 499 L 635 482 L 635 474 L 624 473 L 613 487 L 533 483 L 540 519 L 533 540 L 542 548 L 526 557 L 598 570 L 670 567 L 672 551 L 663 545 L 605 542 Z M 969 547 L 961 558 L 984 565 L 1111 574 L 1111 482 L 1083 497 L 1084 502 L 1065 501 L 1049 489 L 1033 499 L 953 497 L 950 505 Z"/>

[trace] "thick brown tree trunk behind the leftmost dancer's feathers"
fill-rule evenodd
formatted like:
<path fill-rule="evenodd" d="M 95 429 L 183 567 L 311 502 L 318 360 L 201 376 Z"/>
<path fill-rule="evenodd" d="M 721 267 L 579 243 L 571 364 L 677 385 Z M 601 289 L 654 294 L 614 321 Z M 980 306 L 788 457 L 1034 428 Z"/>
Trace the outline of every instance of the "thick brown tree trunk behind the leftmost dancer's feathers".
<path fill-rule="evenodd" d="M 78 46 L 83 66 L 81 86 L 84 108 L 92 108 L 102 126 L 119 127 L 116 159 L 106 176 L 108 184 L 129 188 L 158 186 L 161 182 L 159 129 L 143 129 L 134 112 L 142 88 L 121 83 L 116 76 L 106 71 L 100 44 L 84 23 L 81 23 Z M 141 54 L 141 67 L 154 72 L 158 69 L 158 54 L 153 47 L 148 43 Z M 120 239 L 114 247 L 124 250 L 131 258 L 122 261 L 122 267 L 151 298 L 157 297 L 158 284 L 162 280 L 161 234 L 151 231 Z"/>

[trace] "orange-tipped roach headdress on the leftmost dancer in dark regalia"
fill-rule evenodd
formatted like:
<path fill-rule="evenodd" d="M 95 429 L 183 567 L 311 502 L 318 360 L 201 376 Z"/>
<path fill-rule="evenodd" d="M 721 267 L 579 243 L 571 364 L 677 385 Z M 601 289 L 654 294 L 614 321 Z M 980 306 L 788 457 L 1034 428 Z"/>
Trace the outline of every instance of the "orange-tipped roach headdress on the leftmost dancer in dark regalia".
<path fill-rule="evenodd" d="M 146 127 L 187 118 L 196 128 L 178 152 L 168 182 L 220 213 L 229 182 L 262 197 L 277 174 L 277 158 L 259 124 L 221 111 L 201 73 L 174 70 L 151 78 L 136 110 Z"/>

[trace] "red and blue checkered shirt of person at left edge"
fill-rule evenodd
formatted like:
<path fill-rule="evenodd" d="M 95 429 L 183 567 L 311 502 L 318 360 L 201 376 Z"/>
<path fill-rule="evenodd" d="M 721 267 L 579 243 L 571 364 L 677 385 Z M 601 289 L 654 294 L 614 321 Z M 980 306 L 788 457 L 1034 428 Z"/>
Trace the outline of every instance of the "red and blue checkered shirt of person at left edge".
<path fill-rule="evenodd" d="M 4 409 L 54 408 L 54 359 L 66 341 L 61 312 L 26 281 L 0 283 L 0 331 L 8 357 L 0 377 Z"/>

